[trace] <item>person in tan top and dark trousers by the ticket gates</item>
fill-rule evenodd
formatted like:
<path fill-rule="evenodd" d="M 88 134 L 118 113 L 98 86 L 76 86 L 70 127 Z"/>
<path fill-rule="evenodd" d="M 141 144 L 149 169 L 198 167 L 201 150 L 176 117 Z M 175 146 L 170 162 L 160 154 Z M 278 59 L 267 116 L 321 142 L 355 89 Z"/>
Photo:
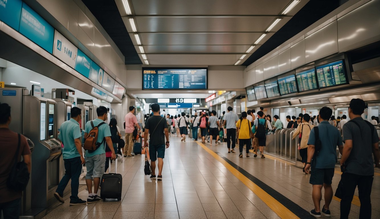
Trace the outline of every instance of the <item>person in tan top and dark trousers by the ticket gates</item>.
<path fill-rule="evenodd" d="M 297 135 L 300 135 L 301 138 L 298 140 L 298 149 L 299 155 L 302 157 L 302 163 L 304 164 L 304 168 L 302 171 L 305 173 L 305 165 L 307 162 L 307 141 L 309 140 L 310 131 L 313 129 L 314 125 L 309 124 L 310 115 L 304 114 L 302 118 L 302 123 L 298 125 L 297 129 L 293 133 L 293 139 L 296 138 Z M 307 173 L 306 173 L 307 174 Z"/>

